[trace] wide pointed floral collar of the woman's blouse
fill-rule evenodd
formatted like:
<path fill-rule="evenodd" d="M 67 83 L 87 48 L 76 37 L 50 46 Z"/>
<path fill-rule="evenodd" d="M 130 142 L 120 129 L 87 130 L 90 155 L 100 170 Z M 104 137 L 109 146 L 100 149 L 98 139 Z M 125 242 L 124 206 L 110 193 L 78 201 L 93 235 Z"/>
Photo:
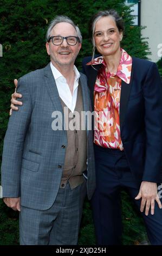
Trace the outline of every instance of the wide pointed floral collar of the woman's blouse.
<path fill-rule="evenodd" d="M 91 60 L 86 65 L 99 65 L 99 64 L 103 64 L 106 67 L 106 62 L 103 56 L 100 56 L 98 58 Z M 108 73 L 110 76 L 117 75 L 119 78 L 121 78 L 121 80 L 129 84 L 131 81 L 131 71 L 132 71 L 132 57 L 129 56 L 129 54 L 124 49 L 121 49 L 121 59 L 120 59 L 120 63 L 119 63 L 116 74 L 113 74 L 111 72 L 108 72 Z"/>

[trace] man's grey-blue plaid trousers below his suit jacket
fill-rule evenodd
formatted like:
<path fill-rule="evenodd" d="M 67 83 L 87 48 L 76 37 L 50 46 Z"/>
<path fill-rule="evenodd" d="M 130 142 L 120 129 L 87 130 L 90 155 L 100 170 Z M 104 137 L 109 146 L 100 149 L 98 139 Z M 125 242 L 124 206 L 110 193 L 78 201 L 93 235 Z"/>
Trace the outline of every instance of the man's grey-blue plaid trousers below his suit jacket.
<path fill-rule="evenodd" d="M 73 190 L 68 182 L 50 209 L 21 206 L 20 245 L 76 245 L 86 193 L 86 181 Z"/>

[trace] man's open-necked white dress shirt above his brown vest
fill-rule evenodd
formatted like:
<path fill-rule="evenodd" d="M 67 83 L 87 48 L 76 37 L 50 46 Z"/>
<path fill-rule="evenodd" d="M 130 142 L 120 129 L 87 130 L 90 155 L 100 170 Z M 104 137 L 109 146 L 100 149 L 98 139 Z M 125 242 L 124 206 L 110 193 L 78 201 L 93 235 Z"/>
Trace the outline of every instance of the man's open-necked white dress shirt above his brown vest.
<path fill-rule="evenodd" d="M 66 104 L 66 106 L 70 109 L 70 111 L 72 111 L 73 113 L 76 105 L 77 87 L 79 85 L 79 77 L 80 77 L 79 71 L 74 65 L 75 80 L 74 80 L 73 95 L 72 95 L 72 93 L 70 92 L 70 88 L 67 84 L 66 78 L 64 78 L 64 76 L 60 73 L 60 71 L 57 70 L 51 62 L 50 62 L 50 68 L 55 78 L 59 96 L 61 97 L 62 101 Z"/>

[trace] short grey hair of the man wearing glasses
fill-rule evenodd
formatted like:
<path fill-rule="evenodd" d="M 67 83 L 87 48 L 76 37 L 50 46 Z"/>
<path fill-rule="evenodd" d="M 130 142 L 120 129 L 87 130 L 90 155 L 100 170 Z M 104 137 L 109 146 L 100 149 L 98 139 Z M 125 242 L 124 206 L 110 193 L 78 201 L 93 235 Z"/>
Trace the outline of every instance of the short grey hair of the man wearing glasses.
<path fill-rule="evenodd" d="M 79 27 L 77 27 L 77 26 L 74 24 L 74 22 L 69 19 L 69 17 L 64 16 L 64 15 L 56 16 L 55 19 L 50 22 L 50 25 L 49 25 L 49 27 L 48 27 L 48 31 L 47 31 L 47 34 L 46 34 L 46 41 L 47 41 L 47 42 L 48 42 L 48 40 L 49 40 L 49 38 L 50 38 L 51 30 L 53 29 L 53 27 L 56 26 L 56 24 L 58 24 L 58 23 L 60 23 L 60 22 L 67 22 L 67 23 L 71 24 L 71 25 L 75 28 L 75 31 L 76 31 L 76 33 L 77 33 L 77 36 L 79 37 L 79 41 L 82 43 L 82 35 L 81 35 L 81 32 L 80 32 Z"/>

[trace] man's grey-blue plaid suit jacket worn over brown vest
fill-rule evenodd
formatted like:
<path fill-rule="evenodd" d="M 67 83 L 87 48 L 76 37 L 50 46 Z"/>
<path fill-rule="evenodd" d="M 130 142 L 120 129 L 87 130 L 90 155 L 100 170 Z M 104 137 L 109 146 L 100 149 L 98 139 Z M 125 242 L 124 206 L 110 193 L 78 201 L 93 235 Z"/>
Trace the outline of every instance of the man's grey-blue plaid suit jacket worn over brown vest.
<path fill-rule="evenodd" d="M 92 111 L 86 76 L 80 83 L 84 111 Z M 50 64 L 23 76 L 17 92 L 23 105 L 13 111 L 4 138 L 2 159 L 3 197 L 21 197 L 21 205 L 46 210 L 59 191 L 67 145 L 67 132 L 53 130 L 51 114 L 62 106 Z M 61 120 L 59 120 L 61 121 Z M 95 190 L 93 132 L 87 131 L 87 192 Z"/>

